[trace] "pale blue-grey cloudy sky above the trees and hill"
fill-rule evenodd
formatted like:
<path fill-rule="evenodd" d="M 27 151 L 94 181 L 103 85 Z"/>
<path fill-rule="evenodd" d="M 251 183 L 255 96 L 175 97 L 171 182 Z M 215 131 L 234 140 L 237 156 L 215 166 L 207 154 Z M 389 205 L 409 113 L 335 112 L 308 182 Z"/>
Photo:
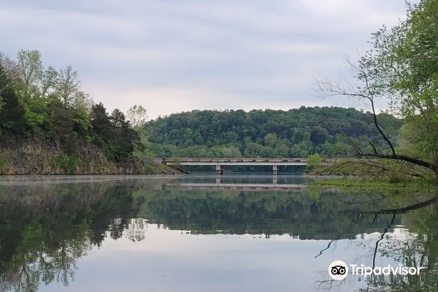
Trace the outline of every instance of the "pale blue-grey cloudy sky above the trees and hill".
<path fill-rule="evenodd" d="M 315 77 L 350 76 L 342 56 L 405 12 L 403 0 L 0 0 L 0 51 L 71 64 L 95 102 L 149 118 L 349 107 L 321 100 Z"/>

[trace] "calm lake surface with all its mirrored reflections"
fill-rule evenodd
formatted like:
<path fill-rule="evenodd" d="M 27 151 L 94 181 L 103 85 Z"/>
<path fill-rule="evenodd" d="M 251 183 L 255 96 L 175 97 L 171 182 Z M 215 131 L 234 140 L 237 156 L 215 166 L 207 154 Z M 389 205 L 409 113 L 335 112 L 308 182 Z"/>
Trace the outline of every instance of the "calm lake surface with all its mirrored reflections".
<path fill-rule="evenodd" d="M 0 291 L 438 291 L 436 194 L 284 188 L 309 180 L 0 177 Z"/>

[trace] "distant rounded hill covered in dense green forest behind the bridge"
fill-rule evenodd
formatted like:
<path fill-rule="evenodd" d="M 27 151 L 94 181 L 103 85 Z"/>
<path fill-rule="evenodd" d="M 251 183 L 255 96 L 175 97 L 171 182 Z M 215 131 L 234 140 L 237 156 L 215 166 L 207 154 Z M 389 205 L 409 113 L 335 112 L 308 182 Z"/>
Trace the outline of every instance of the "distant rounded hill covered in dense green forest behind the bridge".
<path fill-rule="evenodd" d="M 391 142 L 397 143 L 402 121 L 380 113 L 378 122 Z M 373 142 L 380 151 L 388 149 L 372 115 L 353 108 L 193 110 L 159 117 L 144 129 L 149 148 L 158 157 L 293 158 L 315 152 L 326 157 L 352 153 L 336 128 L 364 147 Z"/>

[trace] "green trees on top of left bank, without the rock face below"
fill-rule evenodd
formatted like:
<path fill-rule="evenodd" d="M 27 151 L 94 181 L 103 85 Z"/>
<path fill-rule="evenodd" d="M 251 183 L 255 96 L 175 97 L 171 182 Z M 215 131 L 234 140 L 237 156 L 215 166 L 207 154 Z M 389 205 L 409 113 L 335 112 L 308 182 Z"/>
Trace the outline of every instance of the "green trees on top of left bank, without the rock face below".
<path fill-rule="evenodd" d="M 0 142 L 9 146 L 29 136 L 45 138 L 63 154 L 53 162 L 66 172 L 78 165 L 79 145 L 94 142 L 113 162 L 122 162 L 134 150 L 143 152 L 140 135 L 118 109 L 111 115 L 103 104 L 92 105 L 82 91 L 78 74 L 71 66 L 59 72 L 45 70 L 38 51 L 19 51 L 18 61 L 0 52 Z M 6 62 L 7 61 L 7 62 Z M 3 68 L 2 64 L 8 65 Z M 136 122 L 144 122 L 143 107 L 134 109 Z M 151 156 L 151 151 L 143 153 Z"/>

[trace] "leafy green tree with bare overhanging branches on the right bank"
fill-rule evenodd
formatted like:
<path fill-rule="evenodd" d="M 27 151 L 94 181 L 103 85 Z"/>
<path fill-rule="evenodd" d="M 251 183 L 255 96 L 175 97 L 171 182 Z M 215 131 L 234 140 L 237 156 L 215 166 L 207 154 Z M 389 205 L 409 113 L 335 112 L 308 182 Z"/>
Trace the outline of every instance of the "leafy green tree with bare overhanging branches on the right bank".
<path fill-rule="evenodd" d="M 407 162 L 432 171 L 438 178 L 437 16 L 436 0 L 420 0 L 419 4 L 409 5 L 406 20 L 389 30 L 383 26 L 372 34 L 373 50 L 366 52 L 357 62 L 345 57 L 356 75 L 357 84 L 327 76 L 316 80 L 315 90 L 321 93 L 322 98 L 344 96 L 365 102 L 370 107 L 369 115 L 374 126 L 390 149 L 379 151 L 373 141 L 369 141 L 372 150 L 365 151 L 364 147 L 348 139 L 357 157 Z M 405 123 L 416 123 L 429 133 L 422 137 L 423 152 L 429 157 L 405 155 L 396 147 L 395 141 L 389 139 L 375 109 L 379 98 L 389 98 L 392 114 L 404 119 Z M 412 175 L 419 175 L 416 168 L 412 169 Z"/>

